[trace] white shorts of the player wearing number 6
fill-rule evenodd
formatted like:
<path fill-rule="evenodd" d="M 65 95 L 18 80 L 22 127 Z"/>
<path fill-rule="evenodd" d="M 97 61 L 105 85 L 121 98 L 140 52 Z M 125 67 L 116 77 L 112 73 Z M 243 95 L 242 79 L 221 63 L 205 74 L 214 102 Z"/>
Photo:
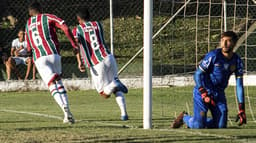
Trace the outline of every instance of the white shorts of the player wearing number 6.
<path fill-rule="evenodd" d="M 42 80 L 49 85 L 56 76 L 61 75 L 61 56 L 42 56 L 35 61 L 35 65 Z"/>

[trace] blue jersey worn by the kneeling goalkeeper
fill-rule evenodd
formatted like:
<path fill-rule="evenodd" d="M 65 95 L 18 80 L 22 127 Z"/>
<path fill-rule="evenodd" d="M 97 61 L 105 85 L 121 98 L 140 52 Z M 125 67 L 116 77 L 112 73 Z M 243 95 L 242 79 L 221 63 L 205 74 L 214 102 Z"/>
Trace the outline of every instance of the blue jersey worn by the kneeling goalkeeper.
<path fill-rule="evenodd" d="M 230 76 L 235 73 L 236 78 L 243 76 L 243 62 L 234 53 L 231 59 L 223 56 L 221 48 L 209 52 L 199 64 L 199 69 L 204 74 L 196 81 L 196 88 L 200 86 L 218 93 L 224 93 L 228 86 Z M 197 82 L 197 81 L 200 81 Z"/>

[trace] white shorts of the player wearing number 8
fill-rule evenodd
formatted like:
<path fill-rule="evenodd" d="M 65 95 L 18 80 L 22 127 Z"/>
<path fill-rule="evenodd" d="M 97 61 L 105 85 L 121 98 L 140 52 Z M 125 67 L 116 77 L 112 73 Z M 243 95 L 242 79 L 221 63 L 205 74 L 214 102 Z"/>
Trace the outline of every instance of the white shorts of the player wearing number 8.
<path fill-rule="evenodd" d="M 117 65 L 113 55 L 108 55 L 97 65 L 90 68 L 92 81 L 98 93 L 117 77 Z"/>

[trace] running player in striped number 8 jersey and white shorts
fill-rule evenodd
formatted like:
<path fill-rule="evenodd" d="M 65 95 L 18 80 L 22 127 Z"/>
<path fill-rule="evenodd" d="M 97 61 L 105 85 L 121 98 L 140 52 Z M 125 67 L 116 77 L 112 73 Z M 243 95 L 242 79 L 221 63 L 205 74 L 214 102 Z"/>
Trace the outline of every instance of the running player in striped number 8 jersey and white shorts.
<path fill-rule="evenodd" d="M 115 94 L 121 120 L 126 121 L 128 115 L 124 93 L 128 89 L 118 79 L 116 60 L 105 44 L 102 25 L 98 21 L 90 21 L 86 8 L 80 9 L 76 16 L 79 25 L 73 29 L 73 35 L 80 42 L 81 56 L 90 69 L 94 86 L 106 99 Z"/>

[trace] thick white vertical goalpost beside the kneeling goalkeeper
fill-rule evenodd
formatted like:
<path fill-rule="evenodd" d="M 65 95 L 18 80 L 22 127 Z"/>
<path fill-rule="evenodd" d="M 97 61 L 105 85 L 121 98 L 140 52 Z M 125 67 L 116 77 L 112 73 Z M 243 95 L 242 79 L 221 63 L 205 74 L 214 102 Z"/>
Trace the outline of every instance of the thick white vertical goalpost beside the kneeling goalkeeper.
<path fill-rule="evenodd" d="M 153 0 L 144 0 L 143 128 L 152 128 L 152 17 Z"/>

